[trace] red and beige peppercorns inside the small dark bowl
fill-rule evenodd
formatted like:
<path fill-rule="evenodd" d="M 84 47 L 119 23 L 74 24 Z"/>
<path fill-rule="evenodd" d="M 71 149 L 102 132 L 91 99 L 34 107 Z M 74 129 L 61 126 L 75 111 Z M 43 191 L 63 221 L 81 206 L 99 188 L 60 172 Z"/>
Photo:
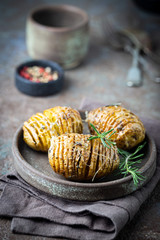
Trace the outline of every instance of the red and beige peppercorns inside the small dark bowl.
<path fill-rule="evenodd" d="M 48 83 L 58 79 L 58 72 L 53 71 L 51 67 L 24 66 L 20 70 L 20 76 L 36 83 Z"/>

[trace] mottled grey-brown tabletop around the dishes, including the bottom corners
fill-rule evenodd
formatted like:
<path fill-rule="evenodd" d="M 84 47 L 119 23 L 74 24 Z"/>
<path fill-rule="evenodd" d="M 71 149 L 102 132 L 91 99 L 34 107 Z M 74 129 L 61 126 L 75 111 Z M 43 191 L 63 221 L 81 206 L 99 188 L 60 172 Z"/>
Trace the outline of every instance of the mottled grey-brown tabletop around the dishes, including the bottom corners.
<path fill-rule="evenodd" d="M 25 23 L 29 11 L 41 4 L 72 4 L 85 9 L 90 18 L 90 48 L 79 67 L 65 72 L 63 91 L 50 97 L 29 97 L 14 86 L 15 67 L 29 60 L 25 44 Z M 143 85 L 125 84 L 131 56 L 105 45 L 103 19 L 109 17 L 118 27 L 140 27 L 152 37 L 160 52 L 160 16 L 138 9 L 129 0 L 5 0 L 0 2 L 0 175 L 14 169 L 11 144 L 15 130 L 36 112 L 56 105 L 78 108 L 83 97 L 106 104 L 121 102 L 134 113 L 160 120 L 160 85 L 143 72 Z M 149 62 L 150 75 L 157 66 Z M 51 239 L 13 234 L 9 219 L 0 219 L 0 239 Z M 160 183 L 137 215 L 119 234 L 123 240 L 160 239 Z"/>

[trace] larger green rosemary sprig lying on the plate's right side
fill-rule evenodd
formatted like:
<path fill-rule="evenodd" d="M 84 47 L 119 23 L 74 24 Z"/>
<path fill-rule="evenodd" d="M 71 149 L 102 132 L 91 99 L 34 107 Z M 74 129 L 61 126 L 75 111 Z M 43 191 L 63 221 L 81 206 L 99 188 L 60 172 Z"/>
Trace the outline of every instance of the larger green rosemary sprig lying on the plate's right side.
<path fill-rule="evenodd" d="M 144 154 L 138 153 L 145 146 L 145 144 L 146 142 L 144 142 L 142 145 L 139 145 L 133 153 L 118 148 L 118 153 L 121 156 L 119 164 L 120 173 L 123 174 L 124 177 L 126 177 L 128 174 L 131 174 L 135 186 L 138 185 L 139 181 L 144 179 L 144 176 L 141 175 L 138 167 L 135 165 L 141 163 L 142 161 Z"/>

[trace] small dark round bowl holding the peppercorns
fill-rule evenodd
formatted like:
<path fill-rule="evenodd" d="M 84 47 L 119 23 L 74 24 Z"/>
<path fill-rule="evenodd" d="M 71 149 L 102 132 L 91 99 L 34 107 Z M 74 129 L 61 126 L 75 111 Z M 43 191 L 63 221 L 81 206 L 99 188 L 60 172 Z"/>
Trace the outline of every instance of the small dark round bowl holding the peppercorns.
<path fill-rule="evenodd" d="M 57 80 L 51 80 L 47 83 L 43 82 L 33 82 L 28 79 L 22 77 L 20 75 L 20 71 L 24 67 L 50 67 L 52 71 L 56 71 L 58 73 Z M 58 93 L 63 86 L 64 81 L 64 71 L 63 69 L 55 62 L 46 61 L 46 60 L 35 60 L 24 62 L 16 68 L 15 71 L 15 85 L 19 91 L 30 95 L 30 96 L 48 96 L 55 93 Z"/>

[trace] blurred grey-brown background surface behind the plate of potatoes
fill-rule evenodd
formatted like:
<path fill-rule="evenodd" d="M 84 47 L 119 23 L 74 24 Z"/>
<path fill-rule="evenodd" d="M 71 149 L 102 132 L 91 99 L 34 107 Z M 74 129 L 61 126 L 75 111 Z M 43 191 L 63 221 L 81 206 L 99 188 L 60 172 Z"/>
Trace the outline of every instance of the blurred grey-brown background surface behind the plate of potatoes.
<path fill-rule="evenodd" d="M 85 10 L 89 16 L 90 44 L 84 61 L 65 71 L 61 92 L 31 97 L 15 87 L 15 68 L 31 59 L 26 47 L 29 12 L 48 4 L 70 4 Z M 57 105 L 78 109 L 82 99 L 88 97 L 104 105 L 121 102 L 140 117 L 160 120 L 159 1 L 5 0 L 0 2 L 0 13 L 1 175 L 13 170 L 11 144 L 15 130 L 44 109 Z M 126 84 L 135 48 L 131 36 L 140 44 L 138 61 L 142 83 L 139 87 Z M 6 239 L 13 239 L 9 237 Z"/>

